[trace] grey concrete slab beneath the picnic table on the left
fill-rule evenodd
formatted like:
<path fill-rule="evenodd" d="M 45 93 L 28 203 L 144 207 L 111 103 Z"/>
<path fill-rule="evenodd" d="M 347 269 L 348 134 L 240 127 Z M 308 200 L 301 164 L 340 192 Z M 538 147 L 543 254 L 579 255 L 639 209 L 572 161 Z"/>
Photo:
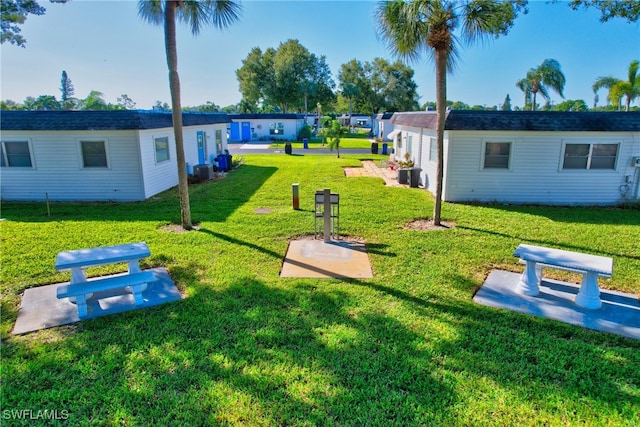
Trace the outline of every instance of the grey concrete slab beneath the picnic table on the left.
<path fill-rule="evenodd" d="M 157 280 L 149 283 L 147 289 L 142 293 L 144 299 L 142 305 L 136 306 L 133 301 L 133 295 L 123 293 L 124 290 L 97 292 L 87 300 L 89 314 L 86 319 L 182 299 L 166 268 L 154 268 L 149 271 L 153 272 Z M 76 305 L 71 303 L 68 298 L 58 299 L 56 297 L 58 286 L 67 283 L 69 282 L 54 283 L 25 290 L 13 333 L 16 335 L 26 334 L 39 329 L 68 325 L 84 320 L 78 317 Z"/>

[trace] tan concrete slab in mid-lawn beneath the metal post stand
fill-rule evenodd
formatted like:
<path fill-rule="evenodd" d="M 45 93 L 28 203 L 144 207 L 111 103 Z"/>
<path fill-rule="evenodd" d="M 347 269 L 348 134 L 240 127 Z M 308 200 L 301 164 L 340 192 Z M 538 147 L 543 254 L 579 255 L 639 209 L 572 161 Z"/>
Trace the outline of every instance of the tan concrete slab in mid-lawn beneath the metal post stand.
<path fill-rule="evenodd" d="M 280 277 L 373 277 L 364 243 L 314 239 L 292 240 L 282 263 Z"/>

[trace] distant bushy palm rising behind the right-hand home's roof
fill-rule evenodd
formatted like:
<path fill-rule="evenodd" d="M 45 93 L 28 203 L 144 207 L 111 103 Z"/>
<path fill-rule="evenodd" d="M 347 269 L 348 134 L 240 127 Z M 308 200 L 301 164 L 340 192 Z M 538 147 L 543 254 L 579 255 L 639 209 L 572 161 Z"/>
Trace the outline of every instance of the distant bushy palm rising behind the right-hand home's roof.
<path fill-rule="evenodd" d="M 565 82 L 560 63 L 555 59 L 545 59 L 538 67 L 527 71 L 527 76 L 518 80 L 516 86 L 524 92 L 525 107 L 527 102 L 531 101 L 531 111 L 535 111 L 538 92 L 549 101 L 551 99 L 549 89 L 553 89 L 564 99 L 562 91 L 564 91 Z"/>

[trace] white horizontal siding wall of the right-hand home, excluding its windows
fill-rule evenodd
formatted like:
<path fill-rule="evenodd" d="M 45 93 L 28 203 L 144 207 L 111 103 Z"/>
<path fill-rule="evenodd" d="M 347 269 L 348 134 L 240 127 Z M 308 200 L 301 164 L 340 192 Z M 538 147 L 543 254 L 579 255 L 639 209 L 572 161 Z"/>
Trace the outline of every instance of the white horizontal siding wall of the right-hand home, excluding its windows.
<path fill-rule="evenodd" d="M 446 201 L 540 203 L 556 205 L 611 205 L 621 201 L 621 185 L 632 168 L 562 169 L 564 147 L 598 140 L 618 145 L 617 164 L 633 156 L 633 140 L 611 133 L 450 131 L 449 159 L 445 161 Z M 627 134 L 628 135 L 628 134 Z M 510 173 L 483 169 L 485 141 L 512 141 Z M 615 141 L 615 142 L 614 142 Z M 591 142 L 589 142 L 591 143 Z M 446 153 L 446 151 L 445 151 Z M 559 167 L 559 166 L 560 167 Z"/>

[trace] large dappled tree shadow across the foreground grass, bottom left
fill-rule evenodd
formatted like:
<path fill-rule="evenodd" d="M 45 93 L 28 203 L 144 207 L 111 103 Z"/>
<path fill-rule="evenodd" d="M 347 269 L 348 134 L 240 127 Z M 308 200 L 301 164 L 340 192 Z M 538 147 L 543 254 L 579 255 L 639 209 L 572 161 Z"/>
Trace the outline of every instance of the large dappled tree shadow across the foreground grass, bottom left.
<path fill-rule="evenodd" d="M 180 303 L 5 348 L 4 408 L 56 407 L 81 424 L 411 425 L 453 419 L 420 337 L 355 314 L 339 291 L 238 278 Z M 29 362 L 23 363 L 25 360 Z"/>

